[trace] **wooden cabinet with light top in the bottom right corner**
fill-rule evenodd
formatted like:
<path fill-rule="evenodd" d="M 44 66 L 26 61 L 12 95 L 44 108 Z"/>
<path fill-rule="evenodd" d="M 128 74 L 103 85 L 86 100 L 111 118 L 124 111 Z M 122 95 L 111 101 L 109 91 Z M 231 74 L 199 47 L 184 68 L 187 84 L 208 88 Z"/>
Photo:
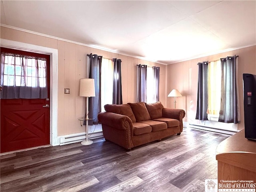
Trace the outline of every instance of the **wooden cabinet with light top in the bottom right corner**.
<path fill-rule="evenodd" d="M 244 137 L 244 130 L 222 141 L 216 149 L 218 183 L 252 180 L 256 183 L 256 141 Z"/>

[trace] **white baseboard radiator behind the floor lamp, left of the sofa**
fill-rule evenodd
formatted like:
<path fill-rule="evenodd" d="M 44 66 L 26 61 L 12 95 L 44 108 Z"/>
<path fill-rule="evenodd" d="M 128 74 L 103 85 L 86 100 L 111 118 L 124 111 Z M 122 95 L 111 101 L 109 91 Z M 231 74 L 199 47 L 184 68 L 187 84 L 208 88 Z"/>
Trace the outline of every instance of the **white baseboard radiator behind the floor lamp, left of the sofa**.
<path fill-rule="evenodd" d="M 88 134 L 89 140 L 102 138 L 102 137 L 103 137 L 102 131 Z M 64 135 L 64 136 L 60 136 L 59 138 L 60 138 L 60 145 L 82 142 L 83 140 L 86 139 L 86 132 Z"/>

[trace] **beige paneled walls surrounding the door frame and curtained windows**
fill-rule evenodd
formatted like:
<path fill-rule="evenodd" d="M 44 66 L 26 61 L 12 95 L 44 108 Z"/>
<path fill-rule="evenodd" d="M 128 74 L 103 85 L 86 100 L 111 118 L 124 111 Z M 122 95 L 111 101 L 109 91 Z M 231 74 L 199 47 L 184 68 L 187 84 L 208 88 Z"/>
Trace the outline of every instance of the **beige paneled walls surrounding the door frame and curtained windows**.
<path fill-rule="evenodd" d="M 241 124 L 238 125 L 238 129 L 244 128 L 242 74 L 256 74 L 256 46 L 165 66 L 2 26 L 0 37 L 58 50 L 58 136 L 84 132 L 84 127 L 81 127 L 78 121 L 78 118 L 84 116 L 85 110 L 85 99 L 79 96 L 79 79 L 86 77 L 86 54 L 90 53 L 102 55 L 104 58 L 122 59 L 123 103 L 136 100 L 136 65 L 160 66 L 160 101 L 164 106 L 174 108 L 174 99 L 168 98 L 167 95 L 172 89 L 178 89 L 183 97 L 177 98 L 176 108 L 184 109 L 186 111 L 184 121 L 192 124 L 202 124 L 195 120 L 197 63 L 218 60 L 234 54 L 239 55 L 238 88 Z M 64 94 L 64 88 L 70 88 L 70 94 Z M 219 124 L 214 124 L 214 126 L 219 126 Z"/>

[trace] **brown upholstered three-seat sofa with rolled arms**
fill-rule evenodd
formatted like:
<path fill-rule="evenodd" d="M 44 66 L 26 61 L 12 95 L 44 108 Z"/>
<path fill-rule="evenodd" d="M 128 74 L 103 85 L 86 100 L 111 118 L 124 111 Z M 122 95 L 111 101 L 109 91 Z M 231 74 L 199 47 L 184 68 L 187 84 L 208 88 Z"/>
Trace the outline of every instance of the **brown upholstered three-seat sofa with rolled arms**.
<path fill-rule="evenodd" d="M 104 106 L 98 114 L 103 136 L 127 150 L 148 142 L 161 140 L 183 130 L 182 109 L 164 108 L 161 102 L 144 102 Z"/>

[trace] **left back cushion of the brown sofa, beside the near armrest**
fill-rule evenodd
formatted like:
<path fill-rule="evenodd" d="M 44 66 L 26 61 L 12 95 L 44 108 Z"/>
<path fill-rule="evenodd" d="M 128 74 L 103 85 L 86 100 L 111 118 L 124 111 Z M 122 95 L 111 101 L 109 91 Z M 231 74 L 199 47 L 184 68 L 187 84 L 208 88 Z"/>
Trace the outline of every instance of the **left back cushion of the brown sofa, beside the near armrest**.
<path fill-rule="evenodd" d="M 132 108 L 128 104 L 115 105 L 115 104 L 106 104 L 104 106 L 106 112 L 112 112 L 120 115 L 128 116 L 132 122 L 136 122 L 135 116 L 132 112 Z"/>

